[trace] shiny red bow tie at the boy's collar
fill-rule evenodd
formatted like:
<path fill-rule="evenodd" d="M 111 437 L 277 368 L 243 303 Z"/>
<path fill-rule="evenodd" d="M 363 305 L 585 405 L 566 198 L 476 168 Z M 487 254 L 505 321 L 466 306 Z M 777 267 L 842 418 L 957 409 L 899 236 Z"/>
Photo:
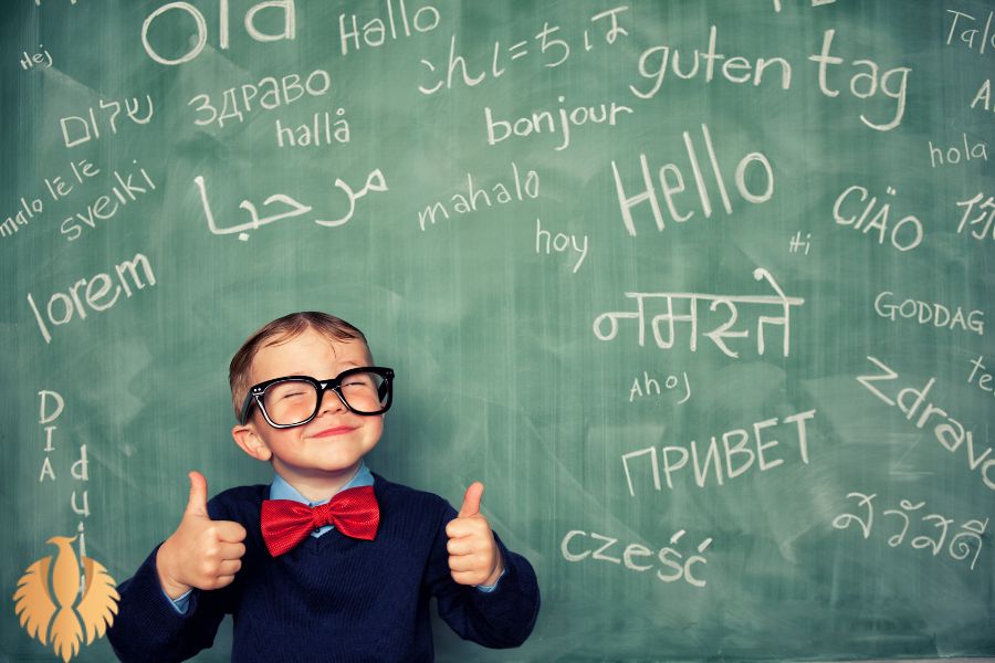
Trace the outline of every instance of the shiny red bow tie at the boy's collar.
<path fill-rule="evenodd" d="M 273 557 L 291 550 L 313 529 L 325 525 L 334 525 L 346 536 L 371 541 L 379 524 L 380 507 L 373 486 L 342 491 L 320 506 L 293 499 L 264 499 L 261 514 L 263 539 Z"/>

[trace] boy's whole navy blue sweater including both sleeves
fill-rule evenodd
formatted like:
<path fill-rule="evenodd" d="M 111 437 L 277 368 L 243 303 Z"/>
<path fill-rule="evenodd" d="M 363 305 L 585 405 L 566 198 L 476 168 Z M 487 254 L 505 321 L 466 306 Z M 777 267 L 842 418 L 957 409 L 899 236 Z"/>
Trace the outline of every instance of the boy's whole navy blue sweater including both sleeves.
<path fill-rule="evenodd" d="M 506 572 L 490 593 L 449 575 L 446 525 L 457 516 L 443 498 L 375 475 L 380 526 L 373 541 L 337 529 L 307 537 L 277 558 L 262 539 L 259 514 L 269 486 L 231 488 L 208 503 L 211 518 L 249 533 L 234 581 L 195 590 L 186 614 L 159 588 L 156 550 L 117 589 L 107 638 L 122 661 L 182 661 L 213 642 L 233 615 L 232 661 L 431 661 L 429 598 L 461 638 L 517 646 L 540 608 L 535 572 L 495 535 Z"/>

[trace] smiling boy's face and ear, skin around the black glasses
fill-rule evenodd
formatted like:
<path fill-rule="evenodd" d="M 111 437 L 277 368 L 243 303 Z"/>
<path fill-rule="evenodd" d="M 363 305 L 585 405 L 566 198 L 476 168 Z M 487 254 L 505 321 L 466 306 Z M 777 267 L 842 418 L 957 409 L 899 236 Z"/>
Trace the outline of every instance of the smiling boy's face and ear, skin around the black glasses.
<path fill-rule="evenodd" d="M 370 362 L 369 350 L 362 340 L 332 340 L 307 329 L 295 338 L 261 348 L 252 359 L 249 377 L 251 385 L 285 376 L 326 380 Z M 336 393 L 325 391 L 318 413 L 304 425 L 274 429 L 253 407 L 249 421 L 234 427 L 232 435 L 249 455 L 261 461 L 272 459 L 276 473 L 301 491 L 348 480 L 363 456 L 376 446 L 383 431 L 383 414 L 350 412 Z"/>

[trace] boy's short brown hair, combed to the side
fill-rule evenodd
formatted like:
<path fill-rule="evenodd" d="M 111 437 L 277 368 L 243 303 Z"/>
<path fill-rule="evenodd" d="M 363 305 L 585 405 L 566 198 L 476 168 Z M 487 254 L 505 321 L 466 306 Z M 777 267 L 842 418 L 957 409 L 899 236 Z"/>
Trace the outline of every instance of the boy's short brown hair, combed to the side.
<path fill-rule="evenodd" d="M 369 344 L 366 341 L 366 336 L 363 335 L 363 332 L 334 315 L 316 311 L 304 311 L 276 318 L 252 334 L 242 344 L 239 351 L 234 354 L 234 357 L 231 358 L 231 364 L 228 367 L 228 383 L 231 387 L 231 402 L 235 417 L 242 413 L 242 401 L 245 400 L 245 394 L 251 387 L 249 383 L 249 370 L 252 367 L 252 359 L 260 348 L 287 341 L 307 329 L 315 329 L 331 340 L 362 340 L 363 345 L 366 346 L 367 354 L 369 354 Z"/>

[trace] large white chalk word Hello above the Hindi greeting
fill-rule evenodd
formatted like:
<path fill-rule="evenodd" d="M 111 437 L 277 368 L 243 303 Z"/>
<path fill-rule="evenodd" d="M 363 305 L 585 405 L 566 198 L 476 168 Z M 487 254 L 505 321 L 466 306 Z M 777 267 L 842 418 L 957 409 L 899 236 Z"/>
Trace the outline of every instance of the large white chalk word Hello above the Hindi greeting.
<path fill-rule="evenodd" d="M 701 125 L 701 134 L 704 141 L 705 156 L 708 157 L 709 166 L 711 167 L 712 179 L 719 191 L 719 197 L 722 199 L 722 208 L 725 210 L 726 215 L 731 215 L 733 213 L 733 200 L 730 197 L 726 187 L 726 176 L 719 166 L 719 157 L 715 147 L 712 144 L 712 135 L 709 131 L 708 125 Z M 667 207 L 667 214 L 670 220 L 678 223 L 689 221 L 698 211 L 701 211 L 705 219 L 710 219 L 712 217 L 713 204 L 712 191 L 705 183 L 704 171 L 701 167 L 701 158 L 699 157 L 698 149 L 694 147 L 691 134 L 684 131 L 682 136 L 684 138 L 684 149 L 691 168 L 691 175 L 694 180 L 692 186 L 698 192 L 698 202 L 700 203 L 699 209 L 692 209 L 693 203 L 685 203 L 687 207 L 684 207 L 685 211 L 683 212 L 678 209 L 677 197 L 687 189 L 684 183 L 684 172 L 687 170 L 682 169 L 677 164 L 664 164 L 659 168 L 660 192 L 663 197 L 663 203 Z M 757 171 L 757 175 L 751 177 L 752 183 L 747 186 L 746 171 L 751 165 L 756 165 L 754 170 L 756 170 L 756 168 L 760 170 Z M 647 202 L 650 206 L 657 230 L 662 232 L 667 227 L 663 211 L 660 207 L 660 198 L 657 193 L 657 185 L 652 172 L 650 171 L 645 152 L 639 155 L 639 170 L 642 176 L 642 182 L 641 185 L 637 185 L 636 189 L 641 187 L 641 190 L 639 190 L 638 193 L 630 196 L 629 191 L 632 189 L 630 188 L 627 191 L 618 165 L 614 159 L 611 160 L 611 173 L 615 176 L 615 190 L 618 193 L 618 206 L 621 211 L 622 223 L 626 227 L 626 231 L 632 236 L 636 236 L 636 221 L 632 219 L 632 209 L 641 206 L 643 202 Z M 746 202 L 753 204 L 767 202 L 774 196 L 774 169 L 771 166 L 771 161 L 763 152 L 755 151 L 747 154 L 740 159 L 740 162 L 736 166 L 734 183 L 735 190 L 739 191 L 740 197 Z"/>

